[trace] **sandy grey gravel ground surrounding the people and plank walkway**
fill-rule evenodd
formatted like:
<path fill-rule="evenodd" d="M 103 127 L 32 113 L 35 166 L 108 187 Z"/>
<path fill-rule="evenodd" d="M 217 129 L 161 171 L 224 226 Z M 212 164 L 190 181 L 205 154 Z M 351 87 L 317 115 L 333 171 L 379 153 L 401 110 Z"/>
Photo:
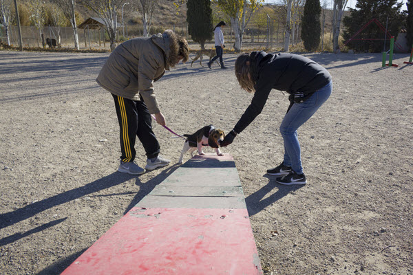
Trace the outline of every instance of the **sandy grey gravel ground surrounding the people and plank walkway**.
<path fill-rule="evenodd" d="M 171 166 L 139 177 L 116 172 L 114 102 L 94 81 L 108 55 L 0 52 L 0 274 L 60 274 L 179 167 L 182 140 L 156 124 Z M 299 129 L 308 184 L 280 186 L 265 174 L 284 153 L 285 93 L 273 90 L 222 149 L 235 158 L 264 273 L 413 274 L 408 55 L 396 54 L 397 68 L 382 68 L 381 54 L 305 55 L 328 68 L 334 85 Z M 224 54 L 225 71 L 181 64 L 155 83 L 173 131 L 232 129 L 251 101 L 237 85 L 235 58 Z"/>

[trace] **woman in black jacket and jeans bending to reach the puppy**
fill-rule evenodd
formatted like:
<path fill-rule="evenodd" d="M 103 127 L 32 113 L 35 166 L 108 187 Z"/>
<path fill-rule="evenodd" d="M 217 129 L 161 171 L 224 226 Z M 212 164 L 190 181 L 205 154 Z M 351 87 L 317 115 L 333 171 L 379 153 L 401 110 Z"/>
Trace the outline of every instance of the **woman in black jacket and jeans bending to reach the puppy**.
<path fill-rule="evenodd" d="M 326 102 L 332 91 L 332 78 L 327 69 L 297 54 L 242 54 L 235 61 L 235 76 L 242 89 L 253 93 L 253 100 L 221 146 L 231 144 L 264 108 L 271 89 L 287 91 L 290 106 L 279 131 L 284 140 L 284 160 L 268 169 L 279 184 L 306 184 L 301 166 L 301 149 L 297 129 Z"/>

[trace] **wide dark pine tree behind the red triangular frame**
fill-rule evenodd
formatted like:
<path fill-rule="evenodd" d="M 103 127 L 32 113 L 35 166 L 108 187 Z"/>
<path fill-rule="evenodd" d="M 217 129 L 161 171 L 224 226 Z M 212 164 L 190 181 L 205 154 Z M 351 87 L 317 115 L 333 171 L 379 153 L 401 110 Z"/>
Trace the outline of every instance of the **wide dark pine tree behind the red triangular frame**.
<path fill-rule="evenodd" d="M 356 7 L 349 8 L 350 16 L 343 19 L 344 41 L 359 32 L 372 19 L 377 19 L 383 25 L 383 28 L 388 22 L 388 32 L 396 40 L 404 21 L 401 13 L 402 5 L 403 3 L 399 3 L 398 0 L 357 0 Z M 371 23 L 354 37 L 354 40 L 350 41 L 347 46 L 357 52 L 382 52 L 384 37 L 384 31 L 376 23 Z M 385 50 L 388 50 L 390 42 L 386 41 L 385 45 Z"/>

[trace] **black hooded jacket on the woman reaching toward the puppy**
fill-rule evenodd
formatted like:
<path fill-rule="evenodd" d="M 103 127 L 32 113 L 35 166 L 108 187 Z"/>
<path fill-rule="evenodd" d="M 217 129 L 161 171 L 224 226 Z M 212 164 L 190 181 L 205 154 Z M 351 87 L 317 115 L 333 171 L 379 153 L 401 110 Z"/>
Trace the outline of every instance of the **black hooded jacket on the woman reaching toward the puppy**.
<path fill-rule="evenodd" d="M 241 133 L 264 109 L 271 89 L 286 91 L 290 101 L 299 98 L 304 102 L 318 89 L 331 81 L 330 73 L 309 58 L 297 54 L 267 54 L 264 51 L 251 53 L 251 66 L 255 81 L 255 94 L 234 127 Z"/>

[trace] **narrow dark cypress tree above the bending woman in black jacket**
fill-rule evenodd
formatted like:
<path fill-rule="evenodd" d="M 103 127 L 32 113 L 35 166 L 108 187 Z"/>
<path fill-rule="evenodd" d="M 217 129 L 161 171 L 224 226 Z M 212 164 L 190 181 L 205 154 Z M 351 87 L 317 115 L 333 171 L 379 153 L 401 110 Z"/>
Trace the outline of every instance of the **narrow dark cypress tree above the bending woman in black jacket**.
<path fill-rule="evenodd" d="M 320 14 L 320 0 L 307 0 L 306 5 L 304 5 L 301 39 L 304 42 L 304 48 L 308 51 L 313 52 L 320 45 Z"/>

